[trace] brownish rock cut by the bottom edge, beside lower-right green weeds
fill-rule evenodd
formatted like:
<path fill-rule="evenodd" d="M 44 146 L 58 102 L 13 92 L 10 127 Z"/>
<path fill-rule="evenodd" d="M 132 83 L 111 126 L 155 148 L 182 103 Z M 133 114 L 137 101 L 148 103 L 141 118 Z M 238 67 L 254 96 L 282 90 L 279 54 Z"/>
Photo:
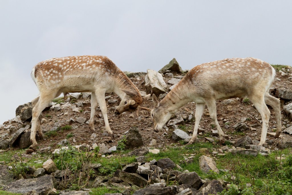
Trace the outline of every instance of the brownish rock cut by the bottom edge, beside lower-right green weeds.
<path fill-rule="evenodd" d="M 199 189 L 197 195 L 219 194 L 223 190 L 224 188 L 220 181 L 213 179 L 212 181 L 207 181 L 204 183 L 204 185 Z"/>

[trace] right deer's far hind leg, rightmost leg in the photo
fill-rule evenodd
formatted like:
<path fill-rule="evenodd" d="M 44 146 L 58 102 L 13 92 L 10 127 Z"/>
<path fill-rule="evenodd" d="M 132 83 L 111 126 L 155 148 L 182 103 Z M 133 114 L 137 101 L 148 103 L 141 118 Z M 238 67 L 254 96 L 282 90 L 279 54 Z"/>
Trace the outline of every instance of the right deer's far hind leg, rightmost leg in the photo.
<path fill-rule="evenodd" d="M 276 126 L 277 126 L 277 132 L 274 138 L 278 138 L 282 131 L 281 126 L 281 103 L 278 98 L 273 97 L 269 93 L 265 94 L 265 103 L 267 105 L 272 106 L 274 109 L 275 115 L 276 115 Z"/>

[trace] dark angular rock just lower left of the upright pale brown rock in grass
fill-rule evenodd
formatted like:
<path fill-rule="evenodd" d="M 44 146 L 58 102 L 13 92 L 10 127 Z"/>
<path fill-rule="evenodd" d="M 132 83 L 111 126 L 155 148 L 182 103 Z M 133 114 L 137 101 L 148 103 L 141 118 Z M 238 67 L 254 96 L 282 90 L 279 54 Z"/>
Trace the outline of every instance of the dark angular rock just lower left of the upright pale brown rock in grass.
<path fill-rule="evenodd" d="M 179 184 L 189 184 L 194 189 L 201 186 L 201 178 L 196 172 L 182 173 L 176 176 Z"/>

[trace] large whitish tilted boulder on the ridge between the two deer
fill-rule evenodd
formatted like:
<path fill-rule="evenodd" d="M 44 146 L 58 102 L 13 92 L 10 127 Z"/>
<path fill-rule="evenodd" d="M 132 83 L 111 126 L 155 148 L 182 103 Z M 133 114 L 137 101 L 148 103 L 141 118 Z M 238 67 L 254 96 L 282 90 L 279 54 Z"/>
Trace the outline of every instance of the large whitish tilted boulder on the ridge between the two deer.
<path fill-rule="evenodd" d="M 167 85 L 163 80 L 160 73 L 147 69 L 147 75 L 145 76 L 145 87 L 151 94 L 159 95 L 167 91 Z"/>

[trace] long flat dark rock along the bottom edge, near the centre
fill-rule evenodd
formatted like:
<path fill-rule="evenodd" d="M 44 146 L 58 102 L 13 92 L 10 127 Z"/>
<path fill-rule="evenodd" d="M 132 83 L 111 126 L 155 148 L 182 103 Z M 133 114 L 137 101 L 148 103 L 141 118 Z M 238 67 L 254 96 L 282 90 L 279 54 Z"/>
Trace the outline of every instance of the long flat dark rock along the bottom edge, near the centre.
<path fill-rule="evenodd" d="M 156 186 L 150 186 L 146 187 L 144 189 L 139 189 L 134 192 L 133 195 L 175 195 L 178 193 L 176 186 L 168 186 L 168 187 L 156 187 Z"/>

